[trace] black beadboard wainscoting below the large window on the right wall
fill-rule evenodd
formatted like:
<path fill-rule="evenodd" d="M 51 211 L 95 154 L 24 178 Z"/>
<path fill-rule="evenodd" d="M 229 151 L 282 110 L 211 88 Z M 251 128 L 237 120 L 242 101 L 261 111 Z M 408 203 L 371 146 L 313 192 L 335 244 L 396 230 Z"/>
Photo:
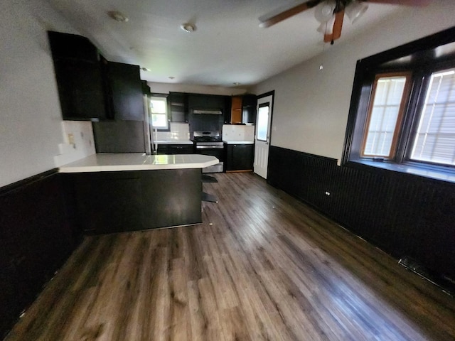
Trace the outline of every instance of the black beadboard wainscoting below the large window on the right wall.
<path fill-rule="evenodd" d="M 455 185 L 270 147 L 267 182 L 400 259 L 455 278 Z M 326 192 L 330 195 L 326 195 Z"/>

